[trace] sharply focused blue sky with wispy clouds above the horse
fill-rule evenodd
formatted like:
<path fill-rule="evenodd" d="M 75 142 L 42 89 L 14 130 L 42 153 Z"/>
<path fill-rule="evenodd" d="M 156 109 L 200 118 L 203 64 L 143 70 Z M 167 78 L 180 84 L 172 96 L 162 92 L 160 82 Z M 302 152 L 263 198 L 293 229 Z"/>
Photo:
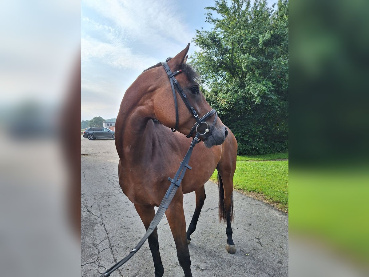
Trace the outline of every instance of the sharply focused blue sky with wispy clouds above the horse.
<path fill-rule="evenodd" d="M 268 1 L 271 6 L 275 3 Z M 211 30 L 205 7 L 213 0 L 82 0 L 81 120 L 117 117 L 124 92 L 152 65 Z"/>

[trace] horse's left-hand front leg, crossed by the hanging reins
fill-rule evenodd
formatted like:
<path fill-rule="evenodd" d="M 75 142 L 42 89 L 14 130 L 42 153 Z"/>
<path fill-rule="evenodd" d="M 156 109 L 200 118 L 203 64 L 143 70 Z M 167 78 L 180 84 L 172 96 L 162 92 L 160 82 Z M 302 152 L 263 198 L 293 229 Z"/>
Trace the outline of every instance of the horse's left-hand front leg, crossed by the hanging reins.
<path fill-rule="evenodd" d="M 152 219 L 155 216 L 154 206 L 144 206 L 135 204 L 135 208 L 142 222 L 144 223 L 145 229 L 147 231 Z M 155 229 L 154 232 L 152 232 L 152 234 L 149 236 L 148 242 L 152 254 L 152 259 L 154 260 L 155 277 L 162 277 L 164 274 L 164 267 L 159 252 L 159 240 L 157 229 Z"/>

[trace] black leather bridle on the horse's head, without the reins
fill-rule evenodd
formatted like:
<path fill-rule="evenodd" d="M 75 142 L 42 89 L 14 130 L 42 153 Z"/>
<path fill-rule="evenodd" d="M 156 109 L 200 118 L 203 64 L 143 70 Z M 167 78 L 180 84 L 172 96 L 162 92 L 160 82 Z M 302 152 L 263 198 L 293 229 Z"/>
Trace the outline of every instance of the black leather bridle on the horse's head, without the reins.
<path fill-rule="evenodd" d="M 182 73 L 183 70 L 180 69 L 176 72 L 172 72 L 169 68 L 169 65 L 167 62 L 162 62 L 161 63 L 163 68 L 165 69 L 166 74 L 168 75 L 169 81 L 170 81 L 170 85 L 172 86 L 172 91 L 173 91 L 173 98 L 174 98 L 174 106 L 176 108 L 176 126 L 174 127 L 174 129 L 172 128 L 172 132 L 177 131 L 178 129 L 178 119 L 179 119 L 179 115 L 178 115 L 178 104 L 177 104 L 177 96 L 176 96 L 176 90 L 179 94 L 179 96 L 182 98 L 184 104 L 186 105 L 187 109 L 190 111 L 190 113 L 193 115 L 193 117 L 196 119 L 196 123 L 194 124 L 194 126 L 192 127 L 190 133 L 187 135 L 187 138 L 190 138 L 192 136 L 192 134 L 196 131 L 196 133 L 198 132 L 198 128 L 201 124 L 205 124 L 206 128 L 205 128 L 205 133 L 199 133 L 200 136 L 204 136 L 205 137 L 202 139 L 203 141 L 207 140 L 207 138 L 210 136 L 211 131 L 213 131 L 214 125 L 217 122 L 217 112 L 215 112 L 214 109 L 212 109 L 210 112 L 206 113 L 203 117 L 201 117 L 199 119 L 199 115 L 197 114 L 196 110 L 194 109 L 194 107 L 191 106 L 190 102 L 187 99 L 186 94 L 183 92 L 183 89 L 181 88 L 181 86 L 179 85 L 177 79 L 175 78 L 175 75 Z M 214 122 L 213 125 L 211 126 L 211 128 L 209 129 L 209 125 L 206 123 L 206 119 L 208 119 L 209 117 L 211 117 L 213 114 L 215 113 L 215 118 L 214 118 Z"/>

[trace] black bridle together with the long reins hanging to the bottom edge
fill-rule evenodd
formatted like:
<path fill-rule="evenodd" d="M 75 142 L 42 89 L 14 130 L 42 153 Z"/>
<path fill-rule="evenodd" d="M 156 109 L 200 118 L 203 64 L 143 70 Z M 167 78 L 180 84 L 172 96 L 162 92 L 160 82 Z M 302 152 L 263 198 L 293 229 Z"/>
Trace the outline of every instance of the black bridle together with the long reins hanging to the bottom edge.
<path fill-rule="evenodd" d="M 190 144 L 190 148 L 189 150 L 187 150 L 186 155 L 183 158 L 183 161 L 180 163 L 180 166 L 174 176 L 174 178 L 170 178 L 168 177 L 168 180 L 170 181 L 170 186 L 168 188 L 168 190 L 166 191 L 166 194 L 161 202 L 161 204 L 159 205 L 159 209 L 156 212 L 154 218 L 152 219 L 149 228 L 146 230 L 146 233 L 144 235 L 144 237 L 142 237 L 142 239 L 138 242 L 138 244 L 136 245 L 136 247 L 134 249 L 131 250 L 131 252 L 122 260 L 118 261 L 118 263 L 114 264 L 112 267 L 110 267 L 110 269 L 106 270 L 100 277 L 107 277 L 110 276 L 111 273 L 113 273 L 115 270 L 117 270 L 119 267 L 123 266 L 123 264 L 125 262 L 127 262 L 129 259 L 131 259 L 131 257 L 141 248 L 141 246 L 145 243 L 146 239 L 148 239 L 148 237 L 152 234 L 152 232 L 154 232 L 155 229 L 157 229 L 157 226 L 160 222 L 160 220 L 163 218 L 163 215 L 165 213 L 165 211 L 168 209 L 170 202 L 172 202 L 173 197 L 176 194 L 177 189 L 180 187 L 182 179 L 184 177 L 184 174 L 186 173 L 187 168 L 188 169 L 192 169 L 192 167 L 190 167 L 190 165 L 188 164 L 192 155 L 192 150 L 195 147 L 195 145 L 197 143 L 199 143 L 201 141 L 201 139 L 199 138 L 200 136 L 206 135 L 205 138 L 203 138 L 203 140 L 206 140 L 208 138 L 208 136 L 211 134 L 211 131 L 213 130 L 213 127 L 217 121 L 217 113 L 215 112 L 214 109 L 212 109 L 210 112 L 206 113 L 203 117 L 201 117 L 199 119 L 199 115 L 197 114 L 196 110 L 191 106 L 190 102 L 187 100 L 187 96 L 186 94 L 183 92 L 183 89 L 181 88 L 181 86 L 179 85 L 177 79 L 174 77 L 175 75 L 183 72 L 182 70 L 176 71 L 174 73 L 172 73 L 172 71 L 169 68 L 169 65 L 166 62 L 162 62 L 162 65 L 168 75 L 168 78 L 170 80 L 170 85 L 172 86 L 172 90 L 173 90 L 173 97 L 174 97 L 174 103 L 175 103 L 175 108 L 176 108 L 176 126 L 174 129 L 172 129 L 173 132 L 175 132 L 178 128 L 178 106 L 177 106 L 177 98 L 176 98 L 176 92 L 175 92 L 175 88 L 177 89 L 179 95 L 181 96 L 183 102 L 186 104 L 187 108 L 189 109 L 189 111 L 193 114 L 193 116 L 196 119 L 196 123 L 194 124 L 194 126 L 192 127 L 190 133 L 187 135 L 187 138 L 190 138 L 192 136 L 192 134 L 196 131 L 196 136 L 192 139 L 191 144 Z M 205 122 L 206 119 L 208 119 L 209 117 L 211 117 L 213 114 L 215 113 L 215 119 L 213 122 L 213 125 L 211 126 L 211 129 L 209 130 L 209 126 L 208 124 Z M 206 124 L 206 129 L 205 129 L 205 133 L 200 134 L 198 132 L 198 128 L 201 124 Z"/>

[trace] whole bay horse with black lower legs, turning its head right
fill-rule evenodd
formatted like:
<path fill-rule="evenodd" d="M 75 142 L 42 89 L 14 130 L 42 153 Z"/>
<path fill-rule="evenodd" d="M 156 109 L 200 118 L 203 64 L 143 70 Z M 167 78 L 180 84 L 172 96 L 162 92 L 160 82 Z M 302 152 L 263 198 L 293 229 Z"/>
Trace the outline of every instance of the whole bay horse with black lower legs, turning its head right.
<path fill-rule="evenodd" d="M 176 76 L 190 104 L 203 116 L 211 110 L 196 83 L 196 74 L 186 64 L 190 44 L 174 58 L 168 60 L 172 72 L 183 70 Z M 178 94 L 177 94 L 178 95 Z M 190 146 L 188 134 L 196 123 L 181 99 L 178 99 L 179 120 L 176 127 L 176 109 L 168 75 L 157 64 L 145 70 L 127 89 L 120 105 L 115 123 L 115 146 L 120 158 L 118 165 L 119 184 L 124 194 L 134 203 L 138 215 L 148 229 L 155 215 L 154 206 L 159 206 L 173 177 Z M 175 197 L 166 210 L 170 229 L 176 244 L 179 264 L 186 277 L 192 276 L 188 243 L 196 228 L 201 208 L 206 198 L 204 184 L 215 168 L 218 170 L 219 216 L 227 223 L 227 251 L 235 253 L 232 240 L 233 219 L 232 191 L 236 168 L 237 141 L 220 119 L 212 126 L 214 115 L 206 121 L 211 129 L 204 143 L 193 150 L 188 170 Z M 213 128 L 211 128 L 213 127 Z M 181 134 L 182 133 L 182 134 Z M 194 136 L 194 134 L 193 134 Z M 204 137 L 200 137 L 203 138 Z M 195 191 L 196 209 L 187 230 L 183 212 L 183 194 Z M 158 233 L 155 230 L 148 238 L 155 266 L 155 276 L 164 273 L 159 253 Z"/>

